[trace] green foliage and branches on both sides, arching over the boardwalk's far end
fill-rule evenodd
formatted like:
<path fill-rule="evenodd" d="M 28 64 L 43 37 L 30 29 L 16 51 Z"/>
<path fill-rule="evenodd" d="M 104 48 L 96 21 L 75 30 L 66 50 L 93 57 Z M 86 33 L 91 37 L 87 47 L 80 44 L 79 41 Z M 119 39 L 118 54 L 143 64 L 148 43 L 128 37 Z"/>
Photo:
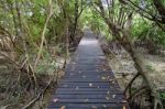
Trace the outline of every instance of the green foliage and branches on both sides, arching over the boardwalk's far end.
<path fill-rule="evenodd" d="M 127 46 L 128 37 L 155 52 L 165 47 L 165 0 L 1 0 L 0 55 L 18 70 L 13 80 L 36 90 L 40 76 L 56 72 L 57 56 L 66 59 L 87 26 L 108 42 Z M 14 87 L 16 96 L 24 86 Z"/>

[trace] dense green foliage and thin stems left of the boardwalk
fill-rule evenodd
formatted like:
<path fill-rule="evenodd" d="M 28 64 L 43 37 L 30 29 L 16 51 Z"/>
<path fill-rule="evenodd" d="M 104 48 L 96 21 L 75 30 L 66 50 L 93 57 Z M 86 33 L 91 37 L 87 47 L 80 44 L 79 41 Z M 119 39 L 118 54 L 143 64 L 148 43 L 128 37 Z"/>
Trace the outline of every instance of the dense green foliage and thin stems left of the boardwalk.
<path fill-rule="evenodd" d="M 79 0 L 0 1 L 0 56 L 11 69 L 7 76 L 6 72 L 0 75 L 0 87 L 10 99 L 3 98 L 0 106 L 23 102 L 18 98 L 25 92 L 30 100 L 50 79 L 58 79 L 57 70 L 65 65 L 72 43 L 81 36 L 78 19 L 82 9 Z M 58 56 L 62 61 L 57 63 Z M 10 87 L 12 83 L 16 84 Z"/>

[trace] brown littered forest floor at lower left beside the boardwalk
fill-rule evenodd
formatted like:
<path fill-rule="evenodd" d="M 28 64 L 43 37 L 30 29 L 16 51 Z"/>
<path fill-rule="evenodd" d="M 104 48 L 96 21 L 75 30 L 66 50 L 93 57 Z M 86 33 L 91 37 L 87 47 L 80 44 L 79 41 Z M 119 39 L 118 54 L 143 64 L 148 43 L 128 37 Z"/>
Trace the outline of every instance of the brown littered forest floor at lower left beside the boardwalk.
<path fill-rule="evenodd" d="M 22 87 L 22 91 L 20 87 L 18 86 L 18 77 L 19 72 L 9 65 L 8 61 L 6 61 L 2 56 L 0 57 L 0 109 L 20 109 L 19 107 L 24 107 L 29 102 L 31 102 L 33 99 L 37 97 L 33 96 L 32 90 L 24 91 L 25 87 Z M 56 66 L 58 66 L 58 76 L 54 76 L 52 72 L 53 69 L 45 69 L 43 73 L 50 73 L 50 74 L 40 74 L 38 77 L 38 85 L 40 89 L 37 89 L 37 94 L 40 94 L 47 85 L 48 81 L 54 77 L 52 80 L 52 84 L 46 89 L 44 94 L 40 97 L 40 99 L 36 101 L 36 103 L 33 103 L 31 109 L 45 109 L 47 103 L 50 102 L 52 98 L 52 94 L 54 94 L 55 88 L 57 87 L 56 80 L 61 79 L 64 75 L 63 72 L 63 65 L 65 63 L 65 57 L 59 56 L 56 59 Z M 43 66 L 44 62 L 40 65 Z M 8 66 L 9 65 L 9 66 Z M 44 65 L 45 67 L 50 67 L 48 64 Z M 25 80 L 25 79 L 24 79 Z M 22 80 L 21 80 L 22 81 Z M 26 81 L 24 81 L 26 83 Z M 14 85 L 15 84 L 15 85 Z M 26 85 L 26 84 L 24 84 Z M 9 88 L 9 89 L 8 89 Z M 13 108 L 14 107 L 14 108 Z"/>

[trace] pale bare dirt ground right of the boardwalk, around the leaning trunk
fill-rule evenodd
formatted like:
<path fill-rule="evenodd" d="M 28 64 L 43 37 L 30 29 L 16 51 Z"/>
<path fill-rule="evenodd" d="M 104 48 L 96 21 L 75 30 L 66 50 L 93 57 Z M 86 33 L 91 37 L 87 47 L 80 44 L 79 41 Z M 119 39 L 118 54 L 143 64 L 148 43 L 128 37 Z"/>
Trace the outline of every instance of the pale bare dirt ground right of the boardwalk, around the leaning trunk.
<path fill-rule="evenodd" d="M 165 89 L 165 56 L 151 55 L 141 52 L 142 58 L 146 62 L 147 68 L 151 70 L 148 76 L 151 81 L 158 90 Z M 130 79 L 136 73 L 133 62 L 129 54 L 123 50 L 112 51 L 108 56 L 109 65 L 114 72 L 114 76 L 122 89 L 125 88 Z M 138 79 L 139 84 L 141 79 Z"/>

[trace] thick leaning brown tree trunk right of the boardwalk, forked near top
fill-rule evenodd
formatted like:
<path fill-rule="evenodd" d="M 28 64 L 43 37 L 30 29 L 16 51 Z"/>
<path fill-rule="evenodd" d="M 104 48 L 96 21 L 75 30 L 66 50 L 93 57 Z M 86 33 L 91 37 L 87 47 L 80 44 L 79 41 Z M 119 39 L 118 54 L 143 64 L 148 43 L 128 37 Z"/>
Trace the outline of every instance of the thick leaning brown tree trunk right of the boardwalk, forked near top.
<path fill-rule="evenodd" d="M 99 10 L 97 11 L 101 14 L 105 22 L 109 26 L 109 30 L 111 31 L 112 36 L 114 36 L 119 41 L 119 43 L 128 51 L 128 53 L 130 54 L 130 56 L 132 57 L 134 62 L 135 68 L 138 69 L 142 78 L 144 79 L 147 88 L 151 90 L 151 94 L 152 94 L 151 96 L 154 97 L 154 100 L 158 102 L 158 105 L 161 106 L 161 109 L 163 109 L 163 105 L 160 100 L 158 94 L 155 87 L 153 86 L 152 81 L 148 79 L 148 75 L 147 75 L 148 72 L 146 70 L 145 64 L 142 61 L 141 55 L 135 51 L 135 47 L 132 44 L 131 40 L 129 39 L 129 36 L 131 36 L 132 13 L 129 14 L 128 17 L 128 22 L 127 22 L 128 26 L 122 28 L 117 22 L 113 22 L 110 18 L 107 18 L 101 0 L 99 0 L 97 6 L 100 9 L 100 11 Z"/>

